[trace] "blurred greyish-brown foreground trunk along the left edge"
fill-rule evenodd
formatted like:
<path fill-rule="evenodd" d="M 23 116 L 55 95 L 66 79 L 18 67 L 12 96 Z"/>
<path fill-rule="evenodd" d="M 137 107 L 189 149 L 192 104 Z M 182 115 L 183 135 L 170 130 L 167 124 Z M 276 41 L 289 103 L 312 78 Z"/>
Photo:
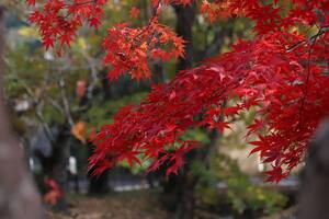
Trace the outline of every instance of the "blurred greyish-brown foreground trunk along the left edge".
<path fill-rule="evenodd" d="M 3 103 L 4 8 L 0 5 L 0 218 L 41 219 L 41 198 L 27 173 L 23 151 L 12 131 Z"/>

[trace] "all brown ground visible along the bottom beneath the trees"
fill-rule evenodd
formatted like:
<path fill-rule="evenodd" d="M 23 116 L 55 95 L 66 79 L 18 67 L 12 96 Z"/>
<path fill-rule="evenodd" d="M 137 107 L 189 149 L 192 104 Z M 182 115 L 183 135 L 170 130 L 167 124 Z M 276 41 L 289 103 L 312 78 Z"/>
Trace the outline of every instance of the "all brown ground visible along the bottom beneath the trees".
<path fill-rule="evenodd" d="M 104 196 L 68 195 L 69 209 L 67 212 L 47 211 L 47 219 L 171 219 L 173 214 L 166 210 L 160 203 L 157 189 L 133 192 L 113 192 Z M 224 210 L 224 209 L 223 209 Z M 219 219 L 218 212 L 197 209 L 196 219 Z M 296 206 L 270 217 L 261 219 L 295 219 Z M 249 219 L 243 216 L 236 219 Z M 254 218 L 252 218 L 254 219 Z"/>

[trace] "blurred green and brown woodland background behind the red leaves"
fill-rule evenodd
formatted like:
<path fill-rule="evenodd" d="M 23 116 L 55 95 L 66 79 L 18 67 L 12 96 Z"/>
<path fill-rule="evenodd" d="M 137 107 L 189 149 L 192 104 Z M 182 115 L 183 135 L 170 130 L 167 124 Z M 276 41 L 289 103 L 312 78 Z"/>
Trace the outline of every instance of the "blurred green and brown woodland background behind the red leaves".
<path fill-rule="evenodd" d="M 121 77 L 110 82 L 109 69 L 102 66 L 106 27 L 122 22 L 144 25 L 151 10 L 147 0 L 110 1 L 105 10 L 103 27 L 98 32 L 80 30 L 71 49 L 61 57 L 42 48 L 36 27 L 26 22 L 24 5 L 11 3 L 5 13 L 7 106 L 47 218 L 235 219 L 292 215 L 299 185 L 296 173 L 279 184 L 264 183 L 262 172 L 268 166 L 257 154 L 249 155 L 252 147 L 246 145 L 246 126 L 256 116 L 256 108 L 245 112 L 243 119 L 236 120 L 232 130 L 224 135 L 190 129 L 185 138 L 198 140 L 202 147 L 185 157 L 186 165 L 178 175 L 166 177 L 166 166 L 146 174 L 147 162 L 134 168 L 122 163 L 97 177 L 88 174 L 88 158 L 93 151 L 89 139 L 102 125 L 112 123 L 120 107 L 143 100 L 151 83 L 168 82 L 179 70 L 228 51 L 239 38 L 253 36 L 247 20 L 211 24 L 195 5 L 168 8 L 161 22 L 188 41 L 185 58 L 150 64 L 151 80 L 136 82 Z"/>

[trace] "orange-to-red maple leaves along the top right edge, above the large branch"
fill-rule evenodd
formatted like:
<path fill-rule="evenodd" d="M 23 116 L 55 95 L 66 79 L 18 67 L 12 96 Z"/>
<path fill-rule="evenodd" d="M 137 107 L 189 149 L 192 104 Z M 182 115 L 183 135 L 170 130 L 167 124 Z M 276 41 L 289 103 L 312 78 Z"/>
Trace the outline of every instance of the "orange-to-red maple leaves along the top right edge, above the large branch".
<path fill-rule="evenodd" d="M 279 4 L 279 0 L 272 3 L 263 3 L 260 0 L 203 0 L 201 11 L 211 22 L 229 16 L 248 18 L 256 22 L 254 31 L 259 34 L 288 31 L 297 24 L 311 25 L 319 22 L 319 18 L 322 19 L 320 23 L 328 23 L 327 0 L 292 0 L 282 4 Z"/>

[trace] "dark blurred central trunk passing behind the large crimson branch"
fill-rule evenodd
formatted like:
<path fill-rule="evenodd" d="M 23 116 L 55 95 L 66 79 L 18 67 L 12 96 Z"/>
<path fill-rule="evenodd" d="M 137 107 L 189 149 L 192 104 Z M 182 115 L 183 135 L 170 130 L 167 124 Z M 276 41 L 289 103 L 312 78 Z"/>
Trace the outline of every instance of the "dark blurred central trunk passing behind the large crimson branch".
<path fill-rule="evenodd" d="M 177 24 L 175 32 L 185 42 L 185 55 L 177 62 L 177 70 L 191 68 L 193 64 L 192 27 L 195 19 L 195 5 L 182 7 L 173 5 Z M 169 210 L 175 211 L 175 218 L 193 219 L 194 217 L 194 188 L 197 178 L 191 174 L 190 163 L 195 158 L 195 151 L 185 155 L 185 165 L 182 173 L 170 175 L 168 181 L 163 182 L 163 203 Z"/>

